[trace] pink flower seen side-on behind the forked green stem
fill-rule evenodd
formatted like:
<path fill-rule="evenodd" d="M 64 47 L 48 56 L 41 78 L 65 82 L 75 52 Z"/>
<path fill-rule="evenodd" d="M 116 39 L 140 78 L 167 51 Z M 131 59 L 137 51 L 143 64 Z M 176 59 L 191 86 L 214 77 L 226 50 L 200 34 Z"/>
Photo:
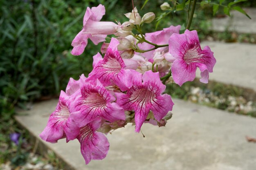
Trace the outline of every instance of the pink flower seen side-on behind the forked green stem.
<path fill-rule="evenodd" d="M 164 28 L 161 31 L 156 31 L 153 33 L 146 33 L 145 39 L 148 40 L 149 42 L 153 42 L 154 44 L 157 44 L 157 45 L 164 45 L 164 44 L 168 44 L 168 40 L 173 33 L 177 33 L 177 34 L 180 33 L 180 25 L 178 25 L 178 26 L 171 25 L 169 28 Z M 142 44 L 138 44 L 138 46 L 139 46 L 139 49 L 142 49 L 142 50 L 148 50 L 148 49 L 152 49 L 155 47 L 146 42 L 143 42 Z M 167 47 L 162 47 L 162 48 L 159 48 L 158 50 L 164 51 L 166 48 Z M 167 51 L 168 51 L 168 48 L 167 48 Z M 154 50 L 148 51 L 146 53 L 141 53 L 141 55 L 143 55 L 147 59 L 151 59 L 154 57 Z"/>

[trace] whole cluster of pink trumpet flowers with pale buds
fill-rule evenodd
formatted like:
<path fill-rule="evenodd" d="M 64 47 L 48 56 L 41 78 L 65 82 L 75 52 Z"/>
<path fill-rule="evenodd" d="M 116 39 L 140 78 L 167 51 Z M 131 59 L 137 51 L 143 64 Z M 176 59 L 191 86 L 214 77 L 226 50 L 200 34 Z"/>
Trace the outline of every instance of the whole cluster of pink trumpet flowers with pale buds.
<path fill-rule="evenodd" d="M 78 139 L 81 153 L 88 164 L 103 159 L 109 150 L 104 134 L 110 130 L 135 125 L 139 132 L 144 123 L 165 126 L 171 118 L 173 101 L 163 94 L 166 82 L 180 86 L 195 79 L 196 68 L 201 82 L 207 83 L 209 72 L 216 63 L 209 46 L 202 50 L 196 31 L 180 34 L 180 26 L 170 26 L 153 33 L 141 32 L 144 23 L 155 19 L 154 13 L 142 18 L 137 9 L 126 13 L 129 21 L 123 24 L 100 21 L 105 14 L 103 5 L 87 8 L 83 29 L 72 42 L 73 55 L 83 53 L 88 38 L 94 44 L 103 42 L 101 53 L 93 56 L 93 70 L 79 80 L 70 78 L 61 91 L 58 105 L 50 115 L 40 137 L 56 143 Z M 134 34 L 137 27 L 139 34 Z M 107 35 L 114 34 L 110 43 Z"/>

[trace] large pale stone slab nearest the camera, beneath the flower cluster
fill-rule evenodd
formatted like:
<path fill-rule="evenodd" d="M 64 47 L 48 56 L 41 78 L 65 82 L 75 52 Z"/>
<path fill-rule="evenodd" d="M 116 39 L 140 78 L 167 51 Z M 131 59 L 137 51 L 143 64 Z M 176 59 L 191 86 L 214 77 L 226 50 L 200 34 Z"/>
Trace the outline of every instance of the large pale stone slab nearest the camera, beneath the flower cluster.
<path fill-rule="evenodd" d="M 43 142 L 75 170 L 255 170 L 256 119 L 173 99 L 173 118 L 166 127 L 144 124 L 141 134 L 134 126 L 107 135 L 106 159 L 85 166 L 77 140 Z M 16 120 L 38 137 L 57 100 L 35 104 L 19 111 Z M 26 113 L 26 115 L 24 115 Z"/>

